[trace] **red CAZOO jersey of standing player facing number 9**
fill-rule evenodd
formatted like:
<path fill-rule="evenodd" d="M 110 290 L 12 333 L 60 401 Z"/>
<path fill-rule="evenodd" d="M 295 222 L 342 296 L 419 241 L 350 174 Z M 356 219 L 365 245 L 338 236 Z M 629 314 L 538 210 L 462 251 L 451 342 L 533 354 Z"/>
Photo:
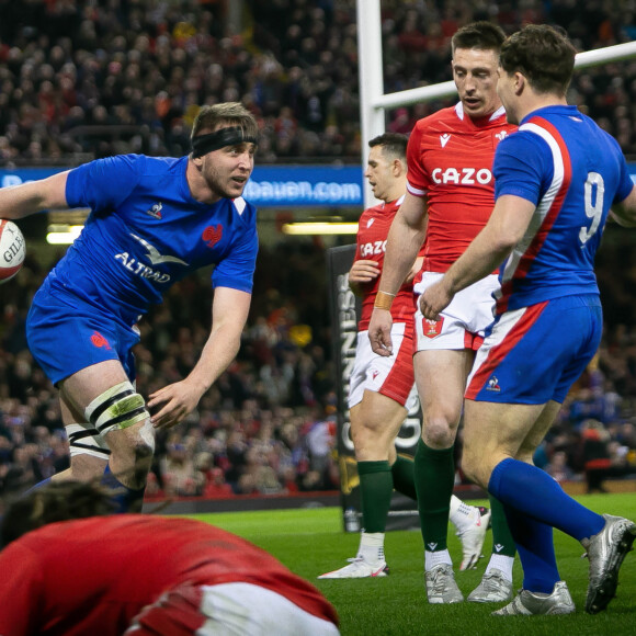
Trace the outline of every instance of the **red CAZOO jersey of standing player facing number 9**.
<path fill-rule="evenodd" d="M 416 124 L 407 149 L 407 178 L 411 194 L 427 196 L 423 270 L 445 272 L 488 222 L 495 206 L 495 150 L 514 130 L 503 107 L 473 120 L 462 102 Z"/>

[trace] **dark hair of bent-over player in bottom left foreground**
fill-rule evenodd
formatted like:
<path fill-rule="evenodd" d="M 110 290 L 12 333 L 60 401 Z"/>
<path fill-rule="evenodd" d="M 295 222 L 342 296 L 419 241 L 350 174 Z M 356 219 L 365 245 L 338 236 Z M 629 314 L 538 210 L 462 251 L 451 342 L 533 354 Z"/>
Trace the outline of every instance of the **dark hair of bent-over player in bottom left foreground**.
<path fill-rule="evenodd" d="M 9 506 L 2 518 L 1 545 L 57 521 L 114 512 L 113 492 L 98 481 L 52 481 Z"/>

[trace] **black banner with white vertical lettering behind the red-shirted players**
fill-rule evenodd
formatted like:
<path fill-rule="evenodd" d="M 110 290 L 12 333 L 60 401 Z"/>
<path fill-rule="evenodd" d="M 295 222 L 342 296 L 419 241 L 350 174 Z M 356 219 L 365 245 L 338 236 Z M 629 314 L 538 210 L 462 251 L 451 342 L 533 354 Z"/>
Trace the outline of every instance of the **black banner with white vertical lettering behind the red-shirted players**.
<path fill-rule="evenodd" d="M 349 288 L 349 270 L 355 255 L 355 245 L 327 250 L 329 300 L 331 308 L 331 334 L 338 387 L 338 464 L 340 467 L 340 501 L 343 527 L 359 532 L 361 524 L 360 478 L 351 440 L 349 421 L 349 382 L 355 360 L 357 320 L 361 300 Z M 412 457 L 421 435 L 419 402 L 408 413 L 398 438 L 396 448 L 400 455 Z M 386 530 L 418 530 L 420 520 L 414 501 L 394 491 Z"/>

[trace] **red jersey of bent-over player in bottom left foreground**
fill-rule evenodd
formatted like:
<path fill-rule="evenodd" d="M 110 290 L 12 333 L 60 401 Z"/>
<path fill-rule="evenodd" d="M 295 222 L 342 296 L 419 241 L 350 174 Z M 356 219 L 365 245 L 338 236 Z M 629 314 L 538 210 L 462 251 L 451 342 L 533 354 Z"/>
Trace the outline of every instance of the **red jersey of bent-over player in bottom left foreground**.
<path fill-rule="evenodd" d="M 184 582 L 253 583 L 338 623 L 327 599 L 273 556 L 191 519 L 52 523 L 7 546 L 0 572 L 2 636 L 118 636 L 145 605 Z"/>

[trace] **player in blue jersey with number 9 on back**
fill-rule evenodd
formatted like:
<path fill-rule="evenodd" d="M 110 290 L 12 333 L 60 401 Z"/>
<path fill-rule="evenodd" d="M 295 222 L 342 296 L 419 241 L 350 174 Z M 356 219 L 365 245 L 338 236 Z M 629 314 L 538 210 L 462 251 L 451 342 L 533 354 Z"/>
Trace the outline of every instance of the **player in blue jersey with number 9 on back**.
<path fill-rule="evenodd" d="M 496 614 L 575 611 L 557 569 L 553 527 L 590 560 L 586 610 L 604 610 L 636 524 L 576 502 L 532 455 L 601 341 L 593 260 L 610 207 L 636 225 L 636 189 L 618 144 L 566 102 L 575 48 L 546 25 L 501 47 L 498 93 L 519 132 L 493 163 L 496 205 L 470 247 L 428 288 L 429 319 L 454 294 L 503 262 L 496 319 L 466 390 L 463 467 L 506 507 L 523 565 L 523 590 Z M 381 334 L 382 336 L 382 334 Z"/>

